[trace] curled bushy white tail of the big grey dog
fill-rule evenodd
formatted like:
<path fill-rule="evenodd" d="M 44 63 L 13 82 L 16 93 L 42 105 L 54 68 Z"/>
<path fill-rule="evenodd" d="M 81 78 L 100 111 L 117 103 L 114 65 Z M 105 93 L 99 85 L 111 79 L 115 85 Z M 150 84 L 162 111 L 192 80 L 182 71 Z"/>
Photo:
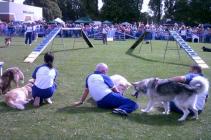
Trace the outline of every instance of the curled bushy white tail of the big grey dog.
<path fill-rule="evenodd" d="M 209 81 L 202 76 L 194 77 L 190 82 L 190 86 L 197 91 L 197 94 L 208 93 L 209 91 Z"/>

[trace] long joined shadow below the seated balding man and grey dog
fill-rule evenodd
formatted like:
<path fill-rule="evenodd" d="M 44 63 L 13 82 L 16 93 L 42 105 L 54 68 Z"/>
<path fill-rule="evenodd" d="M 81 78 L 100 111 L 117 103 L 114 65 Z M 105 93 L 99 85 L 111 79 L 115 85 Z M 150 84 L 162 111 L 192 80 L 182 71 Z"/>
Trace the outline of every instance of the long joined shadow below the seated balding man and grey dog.
<path fill-rule="evenodd" d="M 126 120 L 155 126 L 181 126 L 184 123 L 180 123 L 177 119 L 180 117 L 179 114 L 172 113 L 171 115 L 162 114 L 146 114 L 146 113 L 131 113 L 128 117 L 119 116 L 112 114 L 110 109 L 101 109 L 97 107 L 72 107 L 66 106 L 57 110 L 57 113 L 68 113 L 68 114 L 83 114 L 83 113 L 109 113 L 111 117 L 121 117 Z"/>

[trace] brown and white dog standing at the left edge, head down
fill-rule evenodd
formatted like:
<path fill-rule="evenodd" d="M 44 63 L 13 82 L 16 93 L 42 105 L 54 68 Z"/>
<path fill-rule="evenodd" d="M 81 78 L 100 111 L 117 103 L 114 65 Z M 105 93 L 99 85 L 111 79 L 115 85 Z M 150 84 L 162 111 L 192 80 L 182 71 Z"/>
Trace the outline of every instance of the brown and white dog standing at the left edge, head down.
<path fill-rule="evenodd" d="M 16 87 L 19 87 L 19 81 L 24 82 L 24 75 L 18 67 L 7 69 L 0 77 L 0 90 L 5 94 L 11 88 L 11 82 L 14 81 Z"/>

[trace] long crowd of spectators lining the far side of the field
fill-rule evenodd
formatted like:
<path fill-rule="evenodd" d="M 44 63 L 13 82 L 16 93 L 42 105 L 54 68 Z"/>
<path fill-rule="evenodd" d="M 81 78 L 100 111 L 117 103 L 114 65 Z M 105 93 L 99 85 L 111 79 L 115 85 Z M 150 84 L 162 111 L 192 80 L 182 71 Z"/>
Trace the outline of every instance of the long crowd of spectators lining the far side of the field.
<path fill-rule="evenodd" d="M 29 23 L 24 22 L 11 22 L 11 23 L 0 23 L 0 36 L 23 36 L 26 30 L 26 26 Z M 46 22 L 36 22 L 31 23 L 34 32 L 38 34 L 39 37 L 43 37 L 48 34 L 52 28 L 54 28 L 56 23 L 46 23 Z M 108 37 L 119 37 L 123 39 L 135 39 L 143 34 L 145 30 L 150 32 L 147 36 L 148 39 L 152 40 L 171 40 L 168 30 L 176 30 L 180 33 L 185 41 L 192 41 L 193 36 L 198 37 L 199 42 L 211 43 L 211 28 L 204 27 L 200 24 L 195 27 L 185 26 L 184 24 L 143 24 L 143 23 L 122 23 L 122 24 L 75 24 L 66 23 L 66 28 L 79 27 L 84 30 L 84 32 L 90 38 L 98 38 L 102 34 L 102 29 L 105 28 L 108 32 Z M 62 33 L 63 37 L 80 37 L 80 31 L 77 30 L 66 30 Z"/>

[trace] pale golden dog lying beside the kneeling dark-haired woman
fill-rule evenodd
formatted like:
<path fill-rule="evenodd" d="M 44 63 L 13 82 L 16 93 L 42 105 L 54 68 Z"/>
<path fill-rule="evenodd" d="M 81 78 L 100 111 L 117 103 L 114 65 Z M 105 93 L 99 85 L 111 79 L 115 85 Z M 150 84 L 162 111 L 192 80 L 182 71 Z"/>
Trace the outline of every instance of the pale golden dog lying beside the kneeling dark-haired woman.
<path fill-rule="evenodd" d="M 4 95 L 5 103 L 12 108 L 23 110 L 25 108 L 24 105 L 29 103 L 33 99 L 32 86 L 33 84 L 29 82 L 21 88 L 15 88 L 8 91 Z"/>

